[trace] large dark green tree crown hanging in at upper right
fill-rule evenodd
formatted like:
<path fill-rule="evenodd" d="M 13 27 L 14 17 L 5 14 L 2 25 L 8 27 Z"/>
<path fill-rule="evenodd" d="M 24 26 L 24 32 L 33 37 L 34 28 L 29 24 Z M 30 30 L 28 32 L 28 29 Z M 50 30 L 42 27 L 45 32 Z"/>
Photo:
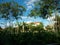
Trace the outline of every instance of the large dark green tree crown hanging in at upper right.
<path fill-rule="evenodd" d="M 40 16 L 48 18 L 58 9 L 59 0 L 38 0 L 35 2 L 35 8 L 31 10 L 30 16 Z"/>

